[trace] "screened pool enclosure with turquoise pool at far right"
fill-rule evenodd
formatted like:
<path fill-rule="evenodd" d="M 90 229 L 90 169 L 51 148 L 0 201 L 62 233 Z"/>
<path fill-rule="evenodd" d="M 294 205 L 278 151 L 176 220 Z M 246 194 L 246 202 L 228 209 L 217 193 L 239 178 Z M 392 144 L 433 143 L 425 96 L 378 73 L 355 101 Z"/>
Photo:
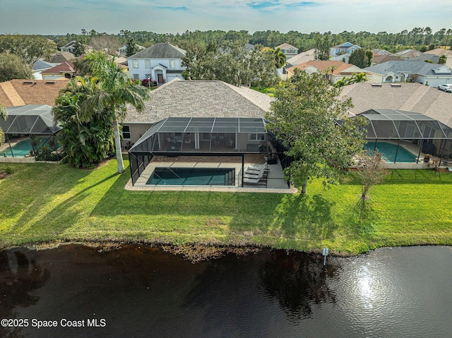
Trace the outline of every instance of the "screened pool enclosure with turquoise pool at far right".
<path fill-rule="evenodd" d="M 367 149 L 386 150 L 386 162 L 418 162 L 424 154 L 440 161 L 451 157 L 452 129 L 429 116 L 395 109 L 371 109 L 359 116 L 369 121 Z"/>

